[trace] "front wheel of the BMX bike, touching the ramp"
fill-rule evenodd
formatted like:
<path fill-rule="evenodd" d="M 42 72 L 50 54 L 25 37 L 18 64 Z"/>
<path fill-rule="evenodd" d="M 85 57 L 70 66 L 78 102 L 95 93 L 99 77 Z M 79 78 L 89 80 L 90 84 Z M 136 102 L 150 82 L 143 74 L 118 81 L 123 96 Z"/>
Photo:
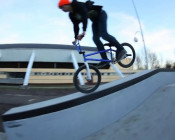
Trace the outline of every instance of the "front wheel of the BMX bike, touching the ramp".
<path fill-rule="evenodd" d="M 76 89 L 83 93 L 90 93 L 95 91 L 101 83 L 101 74 L 99 70 L 89 65 L 90 79 L 87 77 L 86 65 L 81 66 L 74 74 L 73 82 Z"/>

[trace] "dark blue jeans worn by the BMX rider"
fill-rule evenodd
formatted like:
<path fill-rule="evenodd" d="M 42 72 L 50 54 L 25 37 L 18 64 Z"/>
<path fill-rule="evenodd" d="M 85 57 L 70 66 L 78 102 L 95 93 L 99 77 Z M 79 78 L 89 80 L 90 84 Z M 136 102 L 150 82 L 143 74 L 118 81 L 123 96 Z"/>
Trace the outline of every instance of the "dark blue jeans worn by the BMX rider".
<path fill-rule="evenodd" d="M 93 41 L 96 44 L 99 51 L 104 50 L 103 43 L 100 40 L 102 37 L 104 40 L 111 43 L 117 48 L 117 50 L 122 50 L 123 47 L 120 43 L 107 32 L 107 14 L 105 11 L 101 11 L 99 18 L 92 23 Z M 107 59 L 106 53 L 101 53 L 102 59 Z"/>

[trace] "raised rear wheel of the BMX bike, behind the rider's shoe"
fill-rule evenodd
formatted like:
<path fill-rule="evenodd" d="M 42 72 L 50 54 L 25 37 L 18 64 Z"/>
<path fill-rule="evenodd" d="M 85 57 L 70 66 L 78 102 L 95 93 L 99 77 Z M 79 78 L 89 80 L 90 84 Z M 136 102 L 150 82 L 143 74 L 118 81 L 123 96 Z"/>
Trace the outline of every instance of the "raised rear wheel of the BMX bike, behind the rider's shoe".
<path fill-rule="evenodd" d="M 126 54 L 126 57 L 124 59 L 122 59 L 118 62 L 118 64 L 123 68 L 129 68 L 135 62 L 135 57 L 136 57 L 135 50 L 134 50 L 133 46 L 129 43 L 122 43 L 121 45 L 127 51 L 127 54 Z M 129 51 L 128 51 L 128 49 L 129 49 Z"/>

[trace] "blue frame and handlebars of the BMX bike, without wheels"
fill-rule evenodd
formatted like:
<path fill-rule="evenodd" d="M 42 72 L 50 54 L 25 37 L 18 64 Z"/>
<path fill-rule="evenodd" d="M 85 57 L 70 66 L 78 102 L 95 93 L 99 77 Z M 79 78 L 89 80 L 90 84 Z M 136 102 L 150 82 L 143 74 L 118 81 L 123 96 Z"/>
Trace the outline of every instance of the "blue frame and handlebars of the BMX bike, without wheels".
<path fill-rule="evenodd" d="M 107 49 L 107 50 L 97 51 L 97 52 L 94 52 L 94 53 L 85 54 L 85 52 L 82 51 L 79 42 L 78 42 L 77 44 L 74 44 L 74 45 L 76 46 L 77 51 L 78 51 L 80 54 L 83 54 L 83 57 L 84 57 L 84 61 L 85 61 L 85 62 L 88 61 L 88 60 L 90 60 L 90 61 L 104 61 L 104 62 L 111 62 L 111 61 L 112 61 L 112 51 L 115 51 L 115 50 L 113 50 L 113 49 L 110 47 L 110 49 Z M 92 55 L 100 54 L 100 53 L 103 53 L 103 52 L 110 52 L 111 60 L 108 60 L 108 59 L 87 58 L 88 56 L 92 56 Z"/>

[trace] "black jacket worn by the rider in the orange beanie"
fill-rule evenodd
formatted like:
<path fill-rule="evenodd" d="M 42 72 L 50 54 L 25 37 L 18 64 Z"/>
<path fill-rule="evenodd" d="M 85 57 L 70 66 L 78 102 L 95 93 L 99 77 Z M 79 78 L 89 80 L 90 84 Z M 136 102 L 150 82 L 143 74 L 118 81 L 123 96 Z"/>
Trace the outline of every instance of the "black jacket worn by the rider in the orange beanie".
<path fill-rule="evenodd" d="M 79 24 L 83 24 L 83 31 L 86 31 L 88 18 L 92 22 L 98 20 L 99 13 L 101 12 L 102 6 L 88 6 L 87 3 L 78 2 L 73 0 L 72 3 L 73 12 L 69 13 L 69 18 L 74 25 L 74 34 L 77 38 L 79 33 Z"/>

